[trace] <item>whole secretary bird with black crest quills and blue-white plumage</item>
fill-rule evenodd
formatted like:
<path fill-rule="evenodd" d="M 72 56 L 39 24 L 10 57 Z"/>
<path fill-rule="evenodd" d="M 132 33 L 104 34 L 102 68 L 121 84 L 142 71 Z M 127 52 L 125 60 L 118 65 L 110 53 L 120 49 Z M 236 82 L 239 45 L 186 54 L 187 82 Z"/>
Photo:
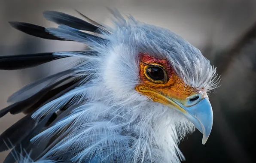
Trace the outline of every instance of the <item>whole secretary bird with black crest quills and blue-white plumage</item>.
<path fill-rule="evenodd" d="M 179 163 L 178 145 L 213 125 L 216 67 L 169 29 L 110 9 L 111 25 L 59 11 L 58 27 L 12 21 L 32 36 L 85 44 L 80 51 L 0 56 L 1 70 L 57 60 L 62 70 L 12 94 L 0 118 L 24 113 L 0 135 L 4 163 Z"/>

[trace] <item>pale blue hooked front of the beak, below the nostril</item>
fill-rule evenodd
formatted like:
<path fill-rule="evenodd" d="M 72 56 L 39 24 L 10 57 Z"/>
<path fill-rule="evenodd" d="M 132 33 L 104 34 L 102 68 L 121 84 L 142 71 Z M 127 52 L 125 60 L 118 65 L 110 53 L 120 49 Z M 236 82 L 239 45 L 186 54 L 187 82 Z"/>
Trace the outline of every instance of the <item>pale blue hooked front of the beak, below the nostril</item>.
<path fill-rule="evenodd" d="M 203 134 L 202 144 L 205 144 L 213 127 L 213 110 L 208 98 L 204 98 L 197 104 L 184 107 L 183 114 Z"/>

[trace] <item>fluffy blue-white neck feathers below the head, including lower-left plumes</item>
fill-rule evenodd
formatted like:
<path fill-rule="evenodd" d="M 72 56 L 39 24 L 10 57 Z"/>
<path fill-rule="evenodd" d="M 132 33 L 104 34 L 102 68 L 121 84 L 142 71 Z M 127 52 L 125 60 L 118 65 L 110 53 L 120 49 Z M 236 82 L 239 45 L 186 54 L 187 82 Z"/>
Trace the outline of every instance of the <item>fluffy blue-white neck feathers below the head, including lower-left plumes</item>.
<path fill-rule="evenodd" d="M 87 103 L 32 140 L 45 139 L 69 127 L 63 133 L 65 137 L 43 158 L 71 152 L 74 162 L 94 158 L 103 163 L 147 163 L 159 159 L 162 163 L 176 163 L 183 159 L 177 147 L 178 133 L 193 127 L 188 127 L 187 121 L 181 124 L 180 114 L 174 109 L 135 94 L 116 100 L 99 78 L 80 91 L 86 94 Z M 180 127 L 178 133 L 175 124 Z"/>

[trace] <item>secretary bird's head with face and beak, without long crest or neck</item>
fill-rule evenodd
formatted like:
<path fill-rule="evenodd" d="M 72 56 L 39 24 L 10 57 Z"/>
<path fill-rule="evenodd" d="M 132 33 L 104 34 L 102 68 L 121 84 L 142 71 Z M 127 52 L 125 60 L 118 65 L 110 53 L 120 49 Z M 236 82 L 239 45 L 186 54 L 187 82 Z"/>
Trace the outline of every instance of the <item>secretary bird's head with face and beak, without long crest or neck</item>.
<path fill-rule="evenodd" d="M 158 114 L 164 107 L 174 122 L 192 122 L 205 144 L 213 125 L 207 92 L 218 84 L 216 69 L 197 48 L 168 29 L 132 17 L 116 22 L 104 63 L 105 82 L 115 99 L 137 101 Z"/>

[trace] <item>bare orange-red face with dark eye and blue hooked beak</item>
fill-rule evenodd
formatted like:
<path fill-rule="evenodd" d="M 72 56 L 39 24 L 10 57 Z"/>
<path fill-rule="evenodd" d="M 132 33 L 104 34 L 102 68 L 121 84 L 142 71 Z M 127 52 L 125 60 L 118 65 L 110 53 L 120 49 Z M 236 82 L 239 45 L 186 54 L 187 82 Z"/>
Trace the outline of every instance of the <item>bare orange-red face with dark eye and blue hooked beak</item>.
<path fill-rule="evenodd" d="M 140 55 L 141 83 L 136 91 L 185 115 L 203 133 L 205 144 L 213 125 L 213 111 L 204 88 L 186 85 L 167 60 Z"/>

